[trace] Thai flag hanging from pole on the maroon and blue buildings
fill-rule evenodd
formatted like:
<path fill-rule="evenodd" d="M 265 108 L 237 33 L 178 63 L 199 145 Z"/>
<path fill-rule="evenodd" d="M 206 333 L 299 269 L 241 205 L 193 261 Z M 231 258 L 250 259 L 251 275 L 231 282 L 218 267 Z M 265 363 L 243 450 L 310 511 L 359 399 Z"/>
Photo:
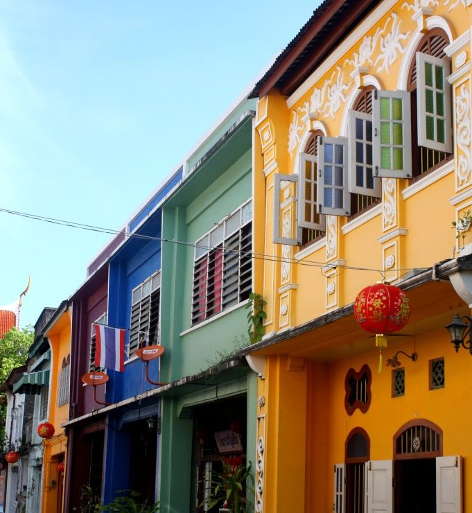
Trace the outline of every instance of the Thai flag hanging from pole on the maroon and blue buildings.
<path fill-rule="evenodd" d="M 94 324 L 95 365 L 123 372 L 125 370 L 125 330 Z"/>

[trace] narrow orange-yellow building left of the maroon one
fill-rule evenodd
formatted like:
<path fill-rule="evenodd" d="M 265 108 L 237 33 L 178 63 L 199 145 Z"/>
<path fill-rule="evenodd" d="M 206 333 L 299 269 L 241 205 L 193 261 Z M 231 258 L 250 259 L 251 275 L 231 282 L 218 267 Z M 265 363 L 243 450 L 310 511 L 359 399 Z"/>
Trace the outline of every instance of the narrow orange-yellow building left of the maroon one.
<path fill-rule="evenodd" d="M 54 436 L 44 440 L 42 512 L 61 513 L 64 498 L 64 469 L 67 437 L 62 424 L 69 419 L 69 379 L 71 369 L 71 311 L 67 301 L 60 304 L 44 331 L 51 346 L 49 419 Z"/>

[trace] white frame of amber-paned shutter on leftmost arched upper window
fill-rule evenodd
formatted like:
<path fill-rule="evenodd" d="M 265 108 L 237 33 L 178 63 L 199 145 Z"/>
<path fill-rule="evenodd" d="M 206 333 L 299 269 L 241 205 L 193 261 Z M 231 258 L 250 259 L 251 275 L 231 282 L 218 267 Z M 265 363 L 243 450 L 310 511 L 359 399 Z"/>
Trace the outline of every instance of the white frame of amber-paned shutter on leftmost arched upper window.
<path fill-rule="evenodd" d="M 320 137 L 320 136 L 319 136 Z M 311 163 L 311 178 L 306 179 L 306 162 Z M 298 225 L 302 228 L 316 229 L 324 232 L 326 230 L 326 216 L 317 214 L 317 187 L 318 187 L 318 173 L 317 173 L 317 157 L 308 153 L 300 153 L 299 155 L 299 182 L 297 186 L 297 201 L 298 201 Z M 305 188 L 310 187 L 311 200 L 306 199 Z M 310 220 L 305 219 L 305 207 L 309 205 L 311 210 Z M 315 216 L 319 216 L 320 222 L 315 222 Z"/>

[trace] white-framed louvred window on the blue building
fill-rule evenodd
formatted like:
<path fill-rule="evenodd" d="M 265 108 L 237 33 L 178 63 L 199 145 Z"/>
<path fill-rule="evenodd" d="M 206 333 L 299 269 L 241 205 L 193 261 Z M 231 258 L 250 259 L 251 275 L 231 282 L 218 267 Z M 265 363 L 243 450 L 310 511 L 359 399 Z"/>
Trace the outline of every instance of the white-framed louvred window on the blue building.
<path fill-rule="evenodd" d="M 132 291 L 128 355 L 143 344 L 159 342 L 160 286 L 161 275 L 156 272 Z"/>

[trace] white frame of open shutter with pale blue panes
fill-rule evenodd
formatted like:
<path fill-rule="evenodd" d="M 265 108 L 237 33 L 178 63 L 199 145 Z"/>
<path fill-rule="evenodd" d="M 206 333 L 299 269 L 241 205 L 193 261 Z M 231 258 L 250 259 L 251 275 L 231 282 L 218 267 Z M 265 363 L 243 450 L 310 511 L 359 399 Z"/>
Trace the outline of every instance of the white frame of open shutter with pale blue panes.
<path fill-rule="evenodd" d="M 334 146 L 342 147 L 342 163 L 334 162 L 325 163 L 326 145 L 333 145 L 333 161 L 335 160 Z M 333 172 L 331 181 L 333 184 L 326 184 L 326 166 L 332 166 Z M 342 184 L 335 185 L 334 168 L 342 168 Z M 326 207 L 324 205 L 324 191 L 330 189 L 342 189 L 342 207 Z M 335 198 L 333 198 L 335 200 Z M 332 216 L 349 216 L 351 215 L 351 195 L 349 194 L 349 159 L 347 155 L 347 138 L 346 137 L 320 137 L 318 139 L 318 186 L 317 186 L 317 211 L 318 214 L 331 214 Z"/>

